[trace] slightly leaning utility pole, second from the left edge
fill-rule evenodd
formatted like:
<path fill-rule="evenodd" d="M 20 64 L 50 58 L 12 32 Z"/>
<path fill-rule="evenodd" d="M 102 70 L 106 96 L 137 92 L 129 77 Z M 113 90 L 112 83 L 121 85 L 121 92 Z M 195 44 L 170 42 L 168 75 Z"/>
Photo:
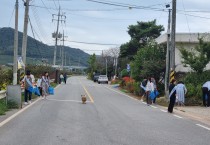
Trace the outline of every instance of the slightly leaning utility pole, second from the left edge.
<path fill-rule="evenodd" d="M 27 32 L 28 32 L 28 13 L 29 13 L 29 0 L 24 2 L 25 6 L 25 18 L 24 18 L 24 28 L 23 28 L 23 43 L 22 43 L 22 59 L 26 66 L 26 48 L 27 48 Z M 24 67 L 25 72 L 25 67 Z"/>

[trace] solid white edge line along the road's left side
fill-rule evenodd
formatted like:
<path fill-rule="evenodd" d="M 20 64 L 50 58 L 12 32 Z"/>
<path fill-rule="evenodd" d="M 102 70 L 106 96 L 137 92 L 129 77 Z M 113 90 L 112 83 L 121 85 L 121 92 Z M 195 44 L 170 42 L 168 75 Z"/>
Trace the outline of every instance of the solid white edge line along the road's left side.
<path fill-rule="evenodd" d="M 60 87 L 60 85 L 57 85 L 55 87 L 55 89 L 58 89 L 58 87 Z M 10 122 L 12 119 L 14 119 L 16 116 L 20 115 L 21 113 L 23 113 L 24 111 L 26 111 L 28 108 L 30 108 L 31 106 L 33 106 L 35 103 L 37 103 L 38 101 L 40 101 L 41 98 L 38 98 L 36 101 L 32 102 L 30 105 L 26 106 L 25 108 L 21 109 L 20 111 L 18 111 L 17 113 L 13 114 L 12 116 L 8 117 L 7 119 L 5 119 L 4 121 L 0 122 L 0 127 L 4 126 L 5 124 L 7 124 L 8 122 Z"/>

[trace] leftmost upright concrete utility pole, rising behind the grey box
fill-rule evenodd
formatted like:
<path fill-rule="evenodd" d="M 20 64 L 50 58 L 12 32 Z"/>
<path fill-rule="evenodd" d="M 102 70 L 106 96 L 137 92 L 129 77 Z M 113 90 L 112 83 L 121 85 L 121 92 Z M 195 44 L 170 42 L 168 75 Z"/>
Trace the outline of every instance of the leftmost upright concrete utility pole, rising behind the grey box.
<path fill-rule="evenodd" d="M 15 4 L 15 34 L 14 34 L 14 59 L 13 59 L 13 85 L 17 85 L 17 56 L 18 56 L 18 0 Z"/>

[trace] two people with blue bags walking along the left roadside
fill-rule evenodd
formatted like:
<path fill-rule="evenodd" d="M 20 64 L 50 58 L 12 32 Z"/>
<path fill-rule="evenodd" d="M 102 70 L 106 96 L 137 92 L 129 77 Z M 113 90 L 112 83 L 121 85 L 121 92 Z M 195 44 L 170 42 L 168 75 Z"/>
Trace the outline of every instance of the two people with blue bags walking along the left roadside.
<path fill-rule="evenodd" d="M 21 80 L 21 84 L 24 86 L 24 104 L 30 104 L 31 103 L 31 97 L 32 97 L 32 91 L 30 88 L 33 88 L 34 86 L 38 87 L 40 96 L 42 99 L 45 99 L 48 93 L 48 88 L 50 86 L 50 77 L 48 72 L 45 72 L 43 75 L 38 78 L 37 82 L 35 81 L 34 75 L 31 74 L 31 72 L 28 70 L 26 71 L 26 75 Z"/>

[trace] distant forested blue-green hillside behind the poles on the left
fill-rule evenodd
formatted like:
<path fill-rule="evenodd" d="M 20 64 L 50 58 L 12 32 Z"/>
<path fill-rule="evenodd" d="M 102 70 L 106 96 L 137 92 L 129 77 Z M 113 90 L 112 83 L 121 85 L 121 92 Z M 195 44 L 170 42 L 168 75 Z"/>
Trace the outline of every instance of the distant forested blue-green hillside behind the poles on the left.
<path fill-rule="evenodd" d="M 19 36 L 18 55 L 21 55 L 23 33 L 19 32 L 18 36 Z M 6 62 L 12 62 L 13 49 L 14 49 L 14 29 L 0 28 L 0 64 L 4 64 Z M 64 47 L 64 50 L 67 58 L 66 59 L 67 65 L 70 64 L 70 65 L 87 66 L 87 60 L 89 58 L 89 54 L 85 53 L 80 49 L 71 48 L 67 46 Z M 52 64 L 53 54 L 54 54 L 54 46 L 48 46 L 28 36 L 27 62 L 29 62 L 28 60 L 38 60 L 41 62 L 42 58 L 45 58 L 48 59 L 48 63 Z M 1 58 L 4 59 L 1 60 Z M 60 63 L 61 63 L 60 46 L 58 46 L 56 64 Z"/>

